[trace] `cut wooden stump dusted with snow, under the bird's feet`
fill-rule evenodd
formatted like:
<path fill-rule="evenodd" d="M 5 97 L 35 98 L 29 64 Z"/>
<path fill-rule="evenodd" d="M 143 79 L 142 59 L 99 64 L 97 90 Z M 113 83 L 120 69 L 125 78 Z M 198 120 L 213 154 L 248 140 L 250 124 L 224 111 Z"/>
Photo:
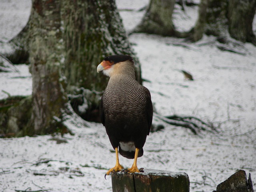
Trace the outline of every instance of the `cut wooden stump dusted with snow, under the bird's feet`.
<path fill-rule="evenodd" d="M 188 174 L 154 169 L 111 174 L 113 192 L 189 192 Z"/>

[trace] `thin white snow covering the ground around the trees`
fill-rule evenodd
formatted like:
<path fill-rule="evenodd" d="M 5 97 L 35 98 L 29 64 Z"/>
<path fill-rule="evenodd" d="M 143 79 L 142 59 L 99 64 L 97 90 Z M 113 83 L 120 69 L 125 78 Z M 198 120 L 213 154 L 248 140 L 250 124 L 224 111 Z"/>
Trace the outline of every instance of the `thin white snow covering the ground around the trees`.
<path fill-rule="evenodd" d="M 132 30 L 145 12 L 138 10 L 148 0 L 116 2 L 126 30 Z M 26 25 L 30 8 L 28 0 L 1 1 L 0 41 L 7 42 L 18 34 Z M 176 8 L 174 24 L 179 30 L 190 29 L 196 22 L 197 8 L 186 8 L 186 14 Z M 138 167 L 186 172 L 190 191 L 207 192 L 243 169 L 247 175 L 251 173 L 256 188 L 256 48 L 249 43 L 238 47 L 246 55 L 220 51 L 211 36 L 195 44 L 147 34 L 133 34 L 129 40 L 157 112 L 196 116 L 219 130 L 219 134 L 194 135 L 186 128 L 165 124 L 164 130 L 148 136 Z M 32 93 L 28 66 L 16 68 L 19 72 L 0 73 L 0 98 L 8 97 L 5 92 Z M 189 71 L 194 81 L 184 80 L 179 70 Z M 75 134 L 64 135 L 67 143 L 57 144 L 49 140 L 52 136 L 0 139 L 0 191 L 29 187 L 54 192 L 112 191 L 111 178 L 105 180 L 104 174 L 114 166 L 115 154 L 105 128 L 75 115 L 66 124 Z M 125 168 L 133 163 L 119 158 Z M 43 160 L 49 162 L 35 164 Z M 35 175 L 38 172 L 46 175 Z"/>

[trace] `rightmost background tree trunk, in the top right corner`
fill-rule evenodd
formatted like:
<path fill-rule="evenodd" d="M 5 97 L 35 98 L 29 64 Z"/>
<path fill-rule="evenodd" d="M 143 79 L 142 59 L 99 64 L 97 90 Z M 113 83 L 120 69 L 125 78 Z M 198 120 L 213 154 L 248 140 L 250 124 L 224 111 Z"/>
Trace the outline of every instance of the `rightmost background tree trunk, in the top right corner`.
<path fill-rule="evenodd" d="M 256 46 L 252 22 L 256 10 L 256 0 L 230 0 L 228 3 L 228 31 L 230 36 L 242 42 L 252 42 Z"/>

